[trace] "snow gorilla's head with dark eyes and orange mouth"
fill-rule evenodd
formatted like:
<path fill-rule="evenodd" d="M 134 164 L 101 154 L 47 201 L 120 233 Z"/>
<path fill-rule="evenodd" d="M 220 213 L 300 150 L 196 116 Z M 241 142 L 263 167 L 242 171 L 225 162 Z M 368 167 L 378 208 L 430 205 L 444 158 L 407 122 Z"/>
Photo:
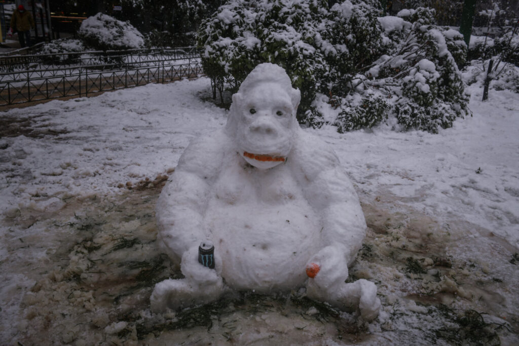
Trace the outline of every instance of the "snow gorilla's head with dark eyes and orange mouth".
<path fill-rule="evenodd" d="M 268 169 L 286 160 L 299 130 L 299 101 L 301 93 L 278 65 L 257 65 L 245 78 L 233 95 L 226 131 L 247 162 Z"/>

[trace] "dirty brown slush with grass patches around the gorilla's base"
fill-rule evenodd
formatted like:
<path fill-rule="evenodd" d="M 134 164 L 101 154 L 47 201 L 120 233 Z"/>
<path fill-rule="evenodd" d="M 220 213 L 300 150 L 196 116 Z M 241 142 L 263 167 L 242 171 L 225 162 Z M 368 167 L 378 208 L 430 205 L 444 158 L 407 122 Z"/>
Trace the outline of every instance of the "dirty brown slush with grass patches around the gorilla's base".
<path fill-rule="evenodd" d="M 365 323 L 355 313 L 311 301 L 304 290 L 276 296 L 241 292 L 206 306 L 153 314 L 149 296 L 155 283 L 182 277 L 156 243 L 154 209 L 165 178 L 128 184 L 119 195 L 61 200 L 53 212 L 18 210 L 2 220 L 10 227 L 5 241 L 11 255 L 0 269 L 30 279 L 29 287 L 13 288 L 3 298 L 15 310 L 2 323 L 3 334 L 11 336 L 3 344 L 518 340 L 519 255 L 513 248 L 467 222 L 440 224 L 395 203 L 394 196 L 362 193 L 369 228 L 348 280 L 377 284 L 383 304 L 377 321 Z"/>

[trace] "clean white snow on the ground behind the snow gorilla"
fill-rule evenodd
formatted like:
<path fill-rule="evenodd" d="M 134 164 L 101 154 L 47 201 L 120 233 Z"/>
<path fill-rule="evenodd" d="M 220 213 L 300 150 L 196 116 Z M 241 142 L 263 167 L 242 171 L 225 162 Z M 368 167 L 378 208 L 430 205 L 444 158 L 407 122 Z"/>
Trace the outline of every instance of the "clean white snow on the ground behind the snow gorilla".
<path fill-rule="evenodd" d="M 390 198 L 440 224 L 456 220 L 486 229 L 512 253 L 519 252 L 519 95 L 491 90 L 489 100 L 481 102 L 481 88 L 469 90 L 473 116 L 439 134 L 394 132 L 385 126 L 346 134 L 332 126 L 304 131 L 333 147 L 362 203 Z M 120 184 L 171 171 L 190 140 L 226 123 L 226 110 L 201 100 L 209 94 L 209 79 L 200 78 L 0 113 L 26 119 L 36 129 L 0 139 L 0 217 L 13 217 L 21 209 L 58 211 L 67 198 L 121 193 Z M 44 229 L 23 230 L 31 231 L 38 242 L 50 244 Z M 12 226 L 0 224 L 2 343 L 18 333 L 15 326 L 27 326 L 20 301 L 34 285 L 27 274 L 9 267 L 21 256 L 6 245 L 12 232 Z M 470 227 L 463 232 L 460 246 L 469 239 L 487 241 Z M 23 256 L 44 261 L 45 246 Z M 469 256 L 472 249 L 466 251 Z M 480 255 L 485 272 L 488 266 L 498 268 L 490 253 Z M 423 309 L 411 304 L 408 310 Z M 517 315 L 516 306 L 507 310 Z M 387 313 L 381 313 L 380 323 L 384 319 L 389 323 Z M 106 333 L 124 326 L 114 322 Z"/>

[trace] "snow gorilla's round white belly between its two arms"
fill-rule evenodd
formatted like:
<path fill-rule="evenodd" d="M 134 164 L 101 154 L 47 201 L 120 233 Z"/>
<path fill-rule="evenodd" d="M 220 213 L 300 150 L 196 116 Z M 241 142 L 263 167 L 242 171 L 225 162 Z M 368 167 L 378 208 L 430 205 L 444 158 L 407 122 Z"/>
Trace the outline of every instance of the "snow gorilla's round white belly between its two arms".
<path fill-rule="evenodd" d="M 213 201 L 206 214 L 226 283 L 258 292 L 304 283 L 305 265 L 320 247 L 317 220 L 303 199 L 275 205 Z"/>

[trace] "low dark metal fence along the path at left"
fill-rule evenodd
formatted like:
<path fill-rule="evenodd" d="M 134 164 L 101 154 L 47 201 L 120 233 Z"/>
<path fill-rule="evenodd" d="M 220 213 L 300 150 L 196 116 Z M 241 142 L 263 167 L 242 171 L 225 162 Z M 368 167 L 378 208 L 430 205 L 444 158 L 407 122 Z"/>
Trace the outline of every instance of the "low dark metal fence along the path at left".
<path fill-rule="evenodd" d="M 165 83 L 202 74 L 192 47 L 0 57 L 0 106 Z"/>

